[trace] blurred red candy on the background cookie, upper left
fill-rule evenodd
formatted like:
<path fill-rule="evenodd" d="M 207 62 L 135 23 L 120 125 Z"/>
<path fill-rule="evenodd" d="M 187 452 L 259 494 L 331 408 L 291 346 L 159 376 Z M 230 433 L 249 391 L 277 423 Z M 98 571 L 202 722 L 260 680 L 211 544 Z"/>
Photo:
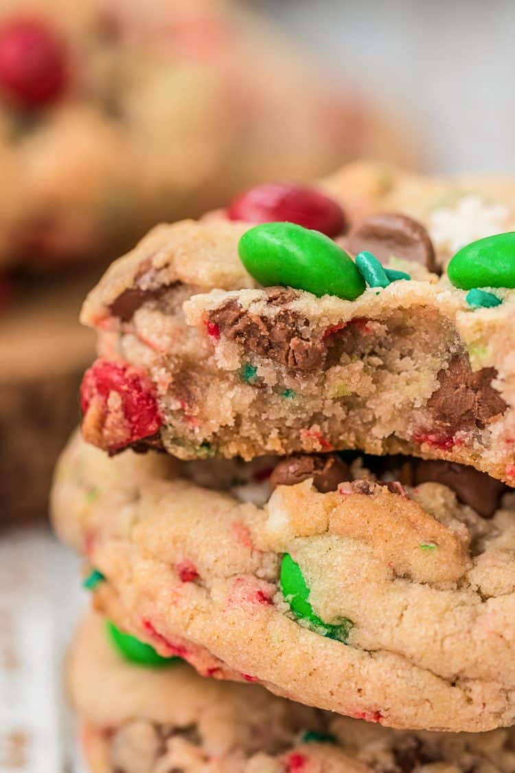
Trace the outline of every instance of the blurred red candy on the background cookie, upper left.
<path fill-rule="evenodd" d="M 22 107 L 53 102 L 66 87 L 63 46 L 51 29 L 31 19 L 0 27 L 0 90 Z"/>

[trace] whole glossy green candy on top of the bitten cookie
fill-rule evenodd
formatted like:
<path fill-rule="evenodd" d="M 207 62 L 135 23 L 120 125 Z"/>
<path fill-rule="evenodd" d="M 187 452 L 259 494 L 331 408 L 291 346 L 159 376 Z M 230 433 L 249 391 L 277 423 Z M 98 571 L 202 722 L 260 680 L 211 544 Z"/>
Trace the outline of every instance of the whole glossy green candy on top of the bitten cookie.
<path fill-rule="evenodd" d="M 294 223 L 263 223 L 243 234 L 239 257 L 263 287 L 306 290 L 354 301 L 364 280 L 354 262 L 324 233 Z"/>

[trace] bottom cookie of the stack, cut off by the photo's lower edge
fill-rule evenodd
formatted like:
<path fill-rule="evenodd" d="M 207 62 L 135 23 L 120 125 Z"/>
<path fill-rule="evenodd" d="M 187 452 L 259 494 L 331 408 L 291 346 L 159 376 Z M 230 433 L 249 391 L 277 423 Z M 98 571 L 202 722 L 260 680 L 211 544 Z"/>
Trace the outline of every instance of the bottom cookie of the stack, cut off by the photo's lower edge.
<path fill-rule="evenodd" d="M 337 717 L 256 685 L 202 679 L 184 663 L 153 672 L 110 647 L 103 620 L 86 618 L 68 684 L 93 773 L 466 773 L 513 768 L 513 730 L 414 733 Z M 102 693 L 103 700 L 98 700 Z"/>

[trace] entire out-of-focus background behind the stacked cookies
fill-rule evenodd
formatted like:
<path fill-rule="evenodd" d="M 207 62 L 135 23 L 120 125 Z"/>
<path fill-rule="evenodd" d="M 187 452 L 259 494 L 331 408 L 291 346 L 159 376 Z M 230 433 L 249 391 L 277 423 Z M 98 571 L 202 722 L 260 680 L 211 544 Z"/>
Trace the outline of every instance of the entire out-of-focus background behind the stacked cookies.
<path fill-rule="evenodd" d="M 46 523 L 77 316 L 159 220 L 354 158 L 515 171 L 509 0 L 0 0 L 0 771 L 79 771 L 83 601 Z"/>

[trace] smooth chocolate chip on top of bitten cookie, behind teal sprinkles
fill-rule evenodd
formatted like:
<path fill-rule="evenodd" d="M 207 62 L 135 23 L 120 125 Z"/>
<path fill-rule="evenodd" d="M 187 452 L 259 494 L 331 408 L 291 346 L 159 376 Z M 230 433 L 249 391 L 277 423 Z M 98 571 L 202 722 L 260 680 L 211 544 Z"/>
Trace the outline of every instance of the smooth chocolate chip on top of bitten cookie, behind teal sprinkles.
<path fill-rule="evenodd" d="M 400 213 L 371 215 L 351 231 L 347 248 L 354 255 L 367 250 L 381 263 L 387 263 L 392 256 L 402 257 L 429 271 L 438 271 L 429 233 L 418 220 Z"/>

